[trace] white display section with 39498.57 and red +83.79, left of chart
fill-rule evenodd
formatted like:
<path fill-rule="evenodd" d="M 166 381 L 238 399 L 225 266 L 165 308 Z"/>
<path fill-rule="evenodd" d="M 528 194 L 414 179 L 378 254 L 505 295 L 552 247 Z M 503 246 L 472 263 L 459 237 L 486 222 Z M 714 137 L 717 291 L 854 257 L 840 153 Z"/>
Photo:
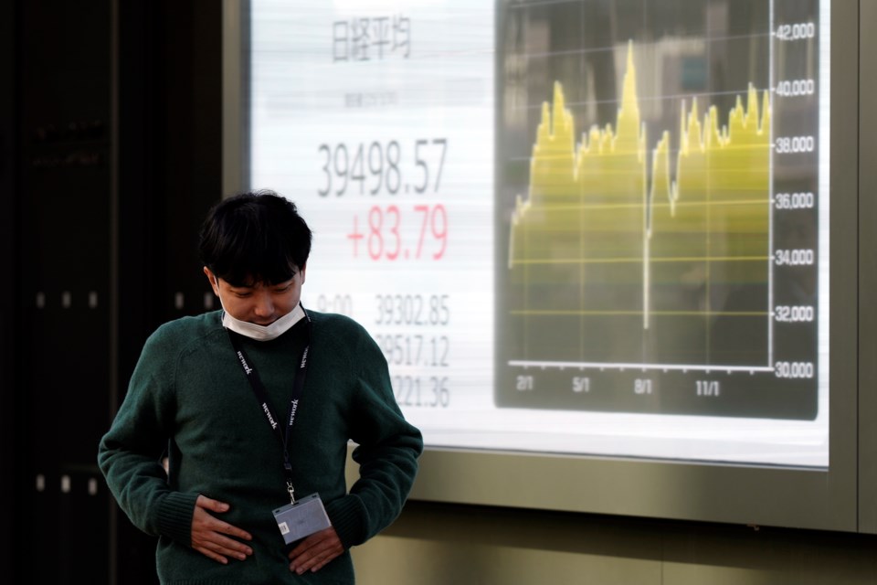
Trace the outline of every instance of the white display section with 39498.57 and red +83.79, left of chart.
<path fill-rule="evenodd" d="M 352 6 L 256 23 L 283 66 L 254 68 L 252 180 L 313 229 L 302 302 L 368 329 L 418 424 L 492 403 L 493 5 Z"/>

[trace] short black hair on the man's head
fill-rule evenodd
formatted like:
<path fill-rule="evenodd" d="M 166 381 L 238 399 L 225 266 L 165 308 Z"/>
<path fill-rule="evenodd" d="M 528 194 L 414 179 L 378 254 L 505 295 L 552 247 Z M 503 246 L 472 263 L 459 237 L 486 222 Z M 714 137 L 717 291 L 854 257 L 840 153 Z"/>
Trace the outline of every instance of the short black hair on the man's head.
<path fill-rule="evenodd" d="M 218 278 L 245 286 L 289 281 L 311 255 L 312 232 L 294 203 L 260 190 L 211 207 L 198 239 L 202 263 Z"/>

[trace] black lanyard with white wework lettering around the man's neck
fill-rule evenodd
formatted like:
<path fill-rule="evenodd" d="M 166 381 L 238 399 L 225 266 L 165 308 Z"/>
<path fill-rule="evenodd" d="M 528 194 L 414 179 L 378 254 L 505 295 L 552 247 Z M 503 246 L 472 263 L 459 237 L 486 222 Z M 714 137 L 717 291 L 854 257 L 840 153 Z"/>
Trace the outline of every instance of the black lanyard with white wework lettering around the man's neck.
<path fill-rule="evenodd" d="M 302 310 L 304 309 L 304 307 L 301 308 Z M 290 408 L 287 413 L 286 428 L 284 431 L 280 431 L 280 423 L 268 404 L 268 392 L 265 390 L 265 385 L 262 384 L 262 380 L 259 378 L 259 373 L 256 372 L 256 367 L 251 361 L 249 361 L 247 353 L 244 351 L 243 346 L 240 345 L 240 334 L 234 333 L 230 329 L 226 330 L 228 332 L 228 338 L 231 339 L 231 345 L 235 348 L 238 362 L 243 368 L 244 374 L 247 375 L 249 385 L 253 388 L 253 392 L 256 394 L 256 399 L 259 400 L 259 406 L 261 407 L 262 412 L 265 413 L 265 419 L 268 420 L 271 431 L 277 435 L 280 444 L 283 446 L 283 472 L 286 475 L 286 491 L 290 494 L 292 504 L 295 504 L 295 490 L 292 488 L 292 463 L 290 461 L 290 450 L 288 446 L 290 444 L 290 431 L 292 430 L 292 424 L 295 422 L 295 414 L 299 409 L 301 390 L 304 388 L 304 377 L 308 373 L 308 351 L 311 349 L 311 335 L 313 331 L 311 315 L 305 311 L 304 317 L 308 320 L 307 337 L 305 339 L 304 352 L 301 354 L 301 363 L 299 364 L 298 369 L 295 370 L 295 378 L 292 380 Z"/>

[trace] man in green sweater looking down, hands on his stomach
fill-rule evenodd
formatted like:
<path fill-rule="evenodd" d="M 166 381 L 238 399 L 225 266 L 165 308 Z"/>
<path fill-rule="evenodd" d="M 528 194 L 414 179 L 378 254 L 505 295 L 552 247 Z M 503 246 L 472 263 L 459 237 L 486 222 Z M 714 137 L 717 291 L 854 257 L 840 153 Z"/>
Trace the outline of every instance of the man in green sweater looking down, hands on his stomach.
<path fill-rule="evenodd" d="M 353 582 L 349 549 L 414 482 L 423 442 L 380 348 L 301 305 L 311 240 L 272 192 L 213 207 L 199 246 L 222 310 L 149 337 L 100 441 L 112 494 L 158 536 L 162 583 Z M 360 476 L 347 492 L 349 440 Z"/>

